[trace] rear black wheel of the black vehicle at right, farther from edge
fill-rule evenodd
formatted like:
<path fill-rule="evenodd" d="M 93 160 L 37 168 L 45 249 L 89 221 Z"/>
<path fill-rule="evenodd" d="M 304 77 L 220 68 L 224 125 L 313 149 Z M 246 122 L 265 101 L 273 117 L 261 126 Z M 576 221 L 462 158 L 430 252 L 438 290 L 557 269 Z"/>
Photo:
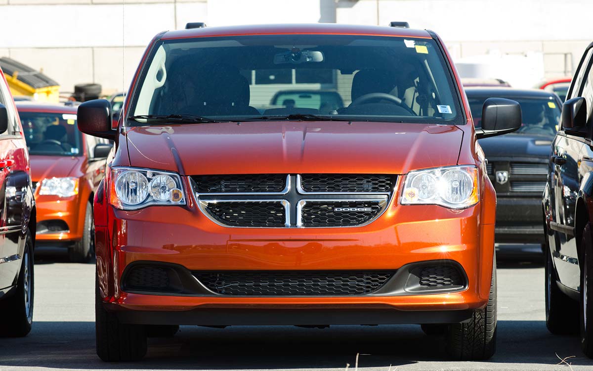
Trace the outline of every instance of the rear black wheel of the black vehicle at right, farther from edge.
<path fill-rule="evenodd" d="M 556 335 L 576 335 L 579 332 L 579 306 L 560 291 L 556 283 L 556 269 L 550 249 L 544 249 L 544 275 L 546 293 L 546 326 L 548 331 Z"/>

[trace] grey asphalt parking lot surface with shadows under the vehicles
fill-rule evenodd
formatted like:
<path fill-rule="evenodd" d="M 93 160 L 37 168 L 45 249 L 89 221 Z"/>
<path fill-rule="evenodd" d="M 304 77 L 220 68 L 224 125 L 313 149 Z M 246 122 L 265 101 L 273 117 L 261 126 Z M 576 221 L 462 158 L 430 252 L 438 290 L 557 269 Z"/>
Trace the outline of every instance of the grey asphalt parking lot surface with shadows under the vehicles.
<path fill-rule="evenodd" d="M 505 256 L 503 256 L 505 255 Z M 37 253 L 33 331 L 0 340 L 0 370 L 592 370 L 576 337 L 546 330 L 538 256 L 499 253 L 498 350 L 489 362 L 447 359 L 420 326 L 182 326 L 149 340 L 138 363 L 103 363 L 95 354 L 94 265 L 59 251 Z M 558 364 L 565 358 L 568 365 Z M 349 366 L 348 366 L 349 365 Z"/>

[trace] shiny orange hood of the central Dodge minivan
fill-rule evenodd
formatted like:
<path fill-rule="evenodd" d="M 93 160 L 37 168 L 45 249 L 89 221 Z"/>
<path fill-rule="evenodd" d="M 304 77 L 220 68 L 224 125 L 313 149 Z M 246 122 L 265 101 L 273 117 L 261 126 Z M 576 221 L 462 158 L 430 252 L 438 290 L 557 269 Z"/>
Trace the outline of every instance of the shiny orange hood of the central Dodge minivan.
<path fill-rule="evenodd" d="M 457 164 L 463 131 L 385 122 L 242 122 L 133 127 L 130 165 L 183 175 L 393 173 Z"/>

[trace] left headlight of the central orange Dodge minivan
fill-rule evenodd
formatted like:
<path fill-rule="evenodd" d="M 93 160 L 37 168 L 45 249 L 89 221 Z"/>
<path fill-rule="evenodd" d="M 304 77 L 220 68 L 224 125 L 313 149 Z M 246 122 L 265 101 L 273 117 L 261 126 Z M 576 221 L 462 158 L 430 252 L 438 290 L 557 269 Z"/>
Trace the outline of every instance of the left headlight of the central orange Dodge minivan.
<path fill-rule="evenodd" d="M 185 205 L 181 177 L 159 170 L 114 167 L 110 179 L 111 205 L 137 210 L 149 205 Z"/>

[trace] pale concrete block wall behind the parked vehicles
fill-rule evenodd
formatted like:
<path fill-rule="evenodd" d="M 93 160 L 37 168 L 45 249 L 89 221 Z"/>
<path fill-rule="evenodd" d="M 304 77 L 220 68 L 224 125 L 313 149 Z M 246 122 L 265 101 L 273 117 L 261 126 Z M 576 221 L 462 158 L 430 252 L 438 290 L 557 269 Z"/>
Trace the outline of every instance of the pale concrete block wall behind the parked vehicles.
<path fill-rule="evenodd" d="M 561 7 L 573 9 L 570 16 Z M 403 20 L 437 31 L 455 59 L 540 52 L 544 75 L 554 77 L 563 75 L 567 60 L 576 67 L 593 40 L 590 14 L 591 0 L 0 0 L 0 56 L 43 69 L 64 91 L 97 82 L 109 93 L 127 88 L 155 34 L 190 21 Z"/>

